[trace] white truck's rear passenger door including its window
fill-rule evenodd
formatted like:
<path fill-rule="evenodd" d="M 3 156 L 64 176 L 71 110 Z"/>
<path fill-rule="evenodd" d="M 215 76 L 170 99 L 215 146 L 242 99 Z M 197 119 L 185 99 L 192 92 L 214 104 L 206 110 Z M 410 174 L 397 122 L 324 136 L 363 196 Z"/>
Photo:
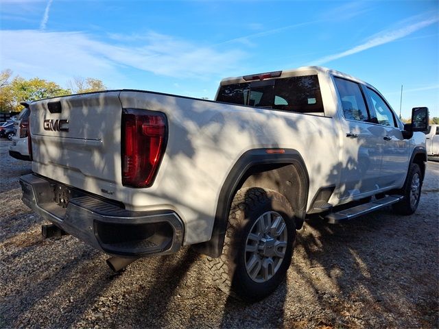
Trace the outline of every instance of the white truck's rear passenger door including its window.
<path fill-rule="evenodd" d="M 380 138 L 383 130 L 372 124 L 361 85 L 334 77 L 342 108 L 342 166 L 340 199 L 377 190 L 380 168 Z"/>

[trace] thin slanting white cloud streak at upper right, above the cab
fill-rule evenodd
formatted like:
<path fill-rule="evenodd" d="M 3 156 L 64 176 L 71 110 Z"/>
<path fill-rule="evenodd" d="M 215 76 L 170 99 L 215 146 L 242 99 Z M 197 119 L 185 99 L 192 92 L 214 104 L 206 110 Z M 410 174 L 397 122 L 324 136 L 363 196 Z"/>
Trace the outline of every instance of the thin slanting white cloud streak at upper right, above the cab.
<path fill-rule="evenodd" d="M 327 62 L 331 62 L 333 60 L 337 60 L 339 58 L 344 58 L 346 56 L 351 56 L 354 53 L 359 53 L 361 51 L 365 51 L 366 49 L 370 49 L 373 47 L 377 47 L 380 45 L 385 45 L 386 43 L 392 42 L 394 40 L 398 40 L 408 36 L 419 29 L 423 29 L 429 25 L 437 23 L 439 21 L 439 17 L 432 17 L 430 19 L 425 19 L 424 21 L 420 21 L 418 23 L 412 23 L 411 25 L 401 27 L 399 29 L 394 29 L 392 31 L 381 31 L 378 34 L 372 36 L 369 40 L 364 42 L 361 45 L 357 45 L 351 49 L 346 51 L 342 51 L 341 53 L 335 53 L 333 55 L 324 56 L 319 58 L 318 60 L 312 62 L 313 65 L 325 64 Z"/>

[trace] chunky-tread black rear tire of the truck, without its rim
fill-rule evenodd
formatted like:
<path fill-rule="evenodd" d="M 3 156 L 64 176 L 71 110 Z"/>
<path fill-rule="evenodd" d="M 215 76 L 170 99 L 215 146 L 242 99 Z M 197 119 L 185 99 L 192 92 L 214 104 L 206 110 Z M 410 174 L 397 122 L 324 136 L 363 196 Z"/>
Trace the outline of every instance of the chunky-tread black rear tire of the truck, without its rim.
<path fill-rule="evenodd" d="M 285 221 L 287 248 L 272 278 L 259 283 L 247 273 L 245 249 L 253 224 L 267 211 L 277 212 Z M 281 284 L 291 264 L 296 239 L 293 216 L 294 212 L 287 199 L 276 191 L 264 188 L 239 190 L 230 208 L 222 255 L 219 258 L 205 258 L 216 287 L 247 302 L 255 302 L 270 295 Z"/>

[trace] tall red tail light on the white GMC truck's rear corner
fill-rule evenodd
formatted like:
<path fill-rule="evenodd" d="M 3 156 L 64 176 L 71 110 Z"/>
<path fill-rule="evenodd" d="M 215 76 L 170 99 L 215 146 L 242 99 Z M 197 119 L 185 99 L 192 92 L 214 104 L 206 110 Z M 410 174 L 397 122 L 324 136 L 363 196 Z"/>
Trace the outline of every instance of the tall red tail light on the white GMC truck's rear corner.
<path fill-rule="evenodd" d="M 152 186 L 167 143 L 165 114 L 123 109 L 121 134 L 123 186 Z"/>

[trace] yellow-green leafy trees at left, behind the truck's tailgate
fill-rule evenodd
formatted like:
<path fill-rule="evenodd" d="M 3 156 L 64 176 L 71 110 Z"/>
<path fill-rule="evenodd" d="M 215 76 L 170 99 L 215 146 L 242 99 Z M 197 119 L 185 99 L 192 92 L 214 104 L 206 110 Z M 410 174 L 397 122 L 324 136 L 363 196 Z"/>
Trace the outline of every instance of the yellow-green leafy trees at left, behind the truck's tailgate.
<path fill-rule="evenodd" d="M 37 99 L 57 97 L 78 93 L 90 93 L 106 90 L 104 83 L 93 77 L 73 77 L 68 82 L 68 88 L 62 88 L 56 82 L 33 77 L 25 79 L 12 76 L 10 69 L 0 73 L 0 112 L 14 112 L 23 110 L 21 101 L 36 101 Z"/>

